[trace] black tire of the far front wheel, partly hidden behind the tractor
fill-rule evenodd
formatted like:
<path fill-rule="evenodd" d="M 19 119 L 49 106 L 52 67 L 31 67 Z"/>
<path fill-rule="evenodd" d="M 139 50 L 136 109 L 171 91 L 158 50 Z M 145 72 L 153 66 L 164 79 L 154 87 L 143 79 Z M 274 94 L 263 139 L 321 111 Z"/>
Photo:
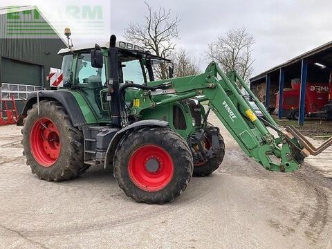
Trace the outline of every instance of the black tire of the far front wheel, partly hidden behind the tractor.
<path fill-rule="evenodd" d="M 211 134 L 210 134 L 210 130 L 213 128 L 214 126 L 210 123 L 208 123 L 207 127 L 206 127 L 206 138 L 211 140 Z M 214 158 L 211 158 L 210 160 L 208 160 L 206 163 L 203 163 L 202 165 L 199 166 L 195 166 L 194 165 L 194 174 L 193 176 L 210 176 L 210 174 L 212 174 L 212 172 L 216 171 L 216 169 L 219 168 L 219 165 L 223 162 L 223 156 L 225 156 L 225 142 L 223 142 L 223 136 L 221 136 L 221 133 L 218 133 L 218 140 L 219 140 L 219 145 L 220 145 L 220 149 L 219 149 L 219 153 L 217 156 L 215 156 Z"/>

